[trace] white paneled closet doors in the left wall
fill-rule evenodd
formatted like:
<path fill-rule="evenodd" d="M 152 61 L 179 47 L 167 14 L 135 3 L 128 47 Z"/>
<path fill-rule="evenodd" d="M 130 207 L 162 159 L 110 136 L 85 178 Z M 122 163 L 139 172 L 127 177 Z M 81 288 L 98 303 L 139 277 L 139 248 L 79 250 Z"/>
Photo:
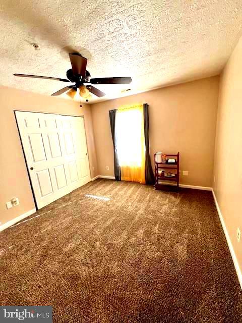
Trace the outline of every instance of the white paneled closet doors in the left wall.
<path fill-rule="evenodd" d="M 83 117 L 15 114 L 38 208 L 90 182 Z"/>

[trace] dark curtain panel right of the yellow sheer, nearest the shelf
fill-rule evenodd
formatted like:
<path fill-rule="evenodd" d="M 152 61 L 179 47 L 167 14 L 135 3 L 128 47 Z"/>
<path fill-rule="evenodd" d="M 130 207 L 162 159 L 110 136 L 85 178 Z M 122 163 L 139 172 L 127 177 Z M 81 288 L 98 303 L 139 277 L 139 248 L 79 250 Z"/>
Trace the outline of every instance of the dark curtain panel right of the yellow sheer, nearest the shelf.
<path fill-rule="evenodd" d="M 149 111 L 148 104 L 144 103 L 144 128 L 145 128 L 145 184 L 154 184 L 155 177 L 150 161 L 149 147 Z"/>

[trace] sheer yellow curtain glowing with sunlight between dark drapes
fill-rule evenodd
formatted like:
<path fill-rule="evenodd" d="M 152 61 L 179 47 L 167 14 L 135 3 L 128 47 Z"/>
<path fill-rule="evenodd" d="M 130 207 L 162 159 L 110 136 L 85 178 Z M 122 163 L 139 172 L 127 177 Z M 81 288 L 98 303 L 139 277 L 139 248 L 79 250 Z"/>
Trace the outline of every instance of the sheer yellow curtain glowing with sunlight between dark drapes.
<path fill-rule="evenodd" d="M 115 131 L 121 180 L 145 184 L 143 104 L 120 107 L 116 112 Z"/>

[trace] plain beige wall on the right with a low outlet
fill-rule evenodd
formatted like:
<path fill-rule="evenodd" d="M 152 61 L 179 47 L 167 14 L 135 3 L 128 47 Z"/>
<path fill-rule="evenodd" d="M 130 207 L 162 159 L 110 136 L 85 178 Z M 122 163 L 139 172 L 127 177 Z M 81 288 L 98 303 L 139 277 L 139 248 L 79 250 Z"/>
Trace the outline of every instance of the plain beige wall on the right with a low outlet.
<path fill-rule="evenodd" d="M 221 76 L 218 100 L 213 189 L 242 270 L 242 38 Z"/>

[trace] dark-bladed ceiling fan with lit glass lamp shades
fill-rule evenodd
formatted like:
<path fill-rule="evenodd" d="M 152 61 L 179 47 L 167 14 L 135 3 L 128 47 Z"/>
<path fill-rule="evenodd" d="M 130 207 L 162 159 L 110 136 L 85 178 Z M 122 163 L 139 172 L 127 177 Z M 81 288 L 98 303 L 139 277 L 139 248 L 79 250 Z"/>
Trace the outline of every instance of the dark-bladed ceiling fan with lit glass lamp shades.
<path fill-rule="evenodd" d="M 51 95 L 61 95 L 62 93 L 67 92 L 67 95 L 74 98 L 77 89 L 79 88 L 80 96 L 86 99 L 90 98 L 90 92 L 95 94 L 98 97 L 105 95 L 102 91 L 96 87 L 89 85 L 91 84 L 129 84 L 132 82 L 131 77 L 101 77 L 91 79 L 90 73 L 86 70 L 87 59 L 81 56 L 78 52 L 69 53 L 70 61 L 72 64 L 72 69 L 67 71 L 67 78 L 62 79 L 57 77 L 48 77 L 48 76 L 38 76 L 38 75 L 28 75 L 28 74 L 14 74 L 15 76 L 21 77 L 33 77 L 49 80 L 57 80 L 62 82 L 75 83 L 74 85 L 68 85 L 61 90 L 54 92 Z M 87 85 L 86 85 L 87 84 Z"/>

